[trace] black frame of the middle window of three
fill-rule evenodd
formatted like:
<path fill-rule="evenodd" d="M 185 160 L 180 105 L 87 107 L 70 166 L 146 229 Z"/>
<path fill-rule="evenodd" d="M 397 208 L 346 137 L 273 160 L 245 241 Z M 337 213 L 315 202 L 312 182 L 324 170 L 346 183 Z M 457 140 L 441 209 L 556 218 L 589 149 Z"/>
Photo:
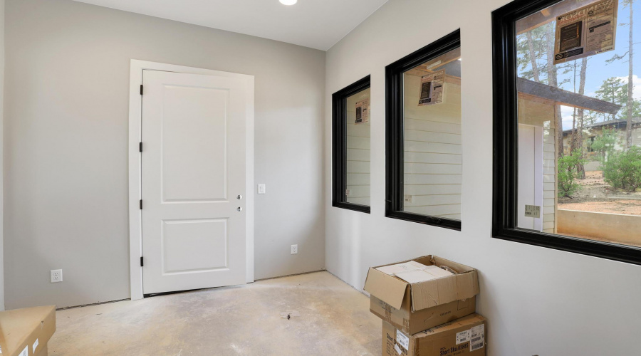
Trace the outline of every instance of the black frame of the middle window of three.
<path fill-rule="evenodd" d="M 389 218 L 461 231 L 461 220 L 403 210 L 403 73 L 460 47 L 459 29 L 385 67 L 385 216 Z"/>

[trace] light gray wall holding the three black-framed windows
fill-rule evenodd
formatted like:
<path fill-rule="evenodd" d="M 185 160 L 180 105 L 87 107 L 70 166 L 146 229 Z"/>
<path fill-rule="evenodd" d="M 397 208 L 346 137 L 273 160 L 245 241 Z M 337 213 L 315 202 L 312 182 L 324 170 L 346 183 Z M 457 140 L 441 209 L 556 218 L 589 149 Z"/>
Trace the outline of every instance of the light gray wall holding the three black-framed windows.
<path fill-rule="evenodd" d="M 328 271 L 362 290 L 369 266 L 433 253 L 478 268 L 488 355 L 638 355 L 641 266 L 491 238 L 491 11 L 507 0 L 390 0 L 327 53 L 331 93 L 371 74 L 372 214 L 326 206 Z M 462 231 L 385 217 L 385 66 L 461 28 Z M 363 56 L 367 53 L 367 56 Z M 365 60 L 364 60 L 365 58 Z M 331 135 L 325 135 L 325 189 Z"/>

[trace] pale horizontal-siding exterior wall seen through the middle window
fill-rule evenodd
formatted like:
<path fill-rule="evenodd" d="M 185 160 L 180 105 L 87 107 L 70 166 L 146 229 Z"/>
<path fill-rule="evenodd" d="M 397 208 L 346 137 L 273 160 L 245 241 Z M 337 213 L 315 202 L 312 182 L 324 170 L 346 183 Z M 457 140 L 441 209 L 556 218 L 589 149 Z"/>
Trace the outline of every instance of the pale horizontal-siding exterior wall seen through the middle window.
<path fill-rule="evenodd" d="M 461 219 L 461 85 L 444 83 L 442 103 L 418 106 L 421 78 L 404 78 L 404 210 Z"/>

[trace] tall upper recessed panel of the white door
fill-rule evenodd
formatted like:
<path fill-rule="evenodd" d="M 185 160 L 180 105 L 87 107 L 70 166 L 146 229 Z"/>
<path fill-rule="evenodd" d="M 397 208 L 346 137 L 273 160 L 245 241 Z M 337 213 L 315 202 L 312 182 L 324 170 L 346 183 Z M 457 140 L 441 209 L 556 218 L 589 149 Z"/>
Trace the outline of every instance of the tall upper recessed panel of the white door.
<path fill-rule="evenodd" d="M 229 90 L 163 85 L 162 91 L 163 201 L 226 200 Z"/>

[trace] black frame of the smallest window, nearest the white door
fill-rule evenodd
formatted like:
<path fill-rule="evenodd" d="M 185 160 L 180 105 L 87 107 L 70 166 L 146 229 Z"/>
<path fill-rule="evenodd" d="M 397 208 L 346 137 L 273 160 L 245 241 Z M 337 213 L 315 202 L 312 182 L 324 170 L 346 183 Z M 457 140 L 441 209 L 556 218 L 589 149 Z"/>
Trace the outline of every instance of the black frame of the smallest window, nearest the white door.
<path fill-rule="evenodd" d="M 367 214 L 370 214 L 371 206 L 348 203 L 347 197 L 345 197 L 345 189 L 347 188 L 347 99 L 370 88 L 370 86 L 370 75 L 368 75 L 332 95 L 332 206 Z"/>

